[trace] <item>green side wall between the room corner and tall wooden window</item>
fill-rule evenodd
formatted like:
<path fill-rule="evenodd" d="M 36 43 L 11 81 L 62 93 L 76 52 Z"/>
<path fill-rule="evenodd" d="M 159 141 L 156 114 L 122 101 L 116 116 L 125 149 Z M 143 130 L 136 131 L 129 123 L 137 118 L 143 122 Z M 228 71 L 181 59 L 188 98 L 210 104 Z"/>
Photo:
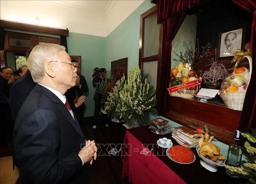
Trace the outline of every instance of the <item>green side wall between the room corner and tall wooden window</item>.
<path fill-rule="evenodd" d="M 154 6 L 150 1 L 143 2 L 106 37 L 106 68 L 111 67 L 111 61 L 128 57 L 129 75 L 129 70 L 139 64 L 140 15 Z"/>

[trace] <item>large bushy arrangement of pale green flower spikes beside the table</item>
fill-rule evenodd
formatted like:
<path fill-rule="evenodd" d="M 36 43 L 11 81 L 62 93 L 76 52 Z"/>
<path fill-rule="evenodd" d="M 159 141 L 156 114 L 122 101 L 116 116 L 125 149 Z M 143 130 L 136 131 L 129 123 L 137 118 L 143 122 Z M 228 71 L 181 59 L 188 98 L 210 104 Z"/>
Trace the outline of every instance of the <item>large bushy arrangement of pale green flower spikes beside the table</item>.
<path fill-rule="evenodd" d="M 113 90 L 107 97 L 105 110 L 110 118 L 124 121 L 128 126 L 134 127 L 137 121 L 139 126 L 151 123 L 151 114 L 156 115 L 156 90 L 147 81 L 144 74 L 137 65 L 130 70 L 130 76 L 115 83 Z"/>

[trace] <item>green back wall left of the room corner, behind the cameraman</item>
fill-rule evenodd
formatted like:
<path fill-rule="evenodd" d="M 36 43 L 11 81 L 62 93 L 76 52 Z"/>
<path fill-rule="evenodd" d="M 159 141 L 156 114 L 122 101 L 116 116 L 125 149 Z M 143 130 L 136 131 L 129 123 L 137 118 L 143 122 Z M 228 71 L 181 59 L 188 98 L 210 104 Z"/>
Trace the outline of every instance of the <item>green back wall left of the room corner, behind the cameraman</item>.
<path fill-rule="evenodd" d="M 95 67 L 105 67 L 105 37 L 69 32 L 67 37 L 69 55 L 81 56 L 81 73 L 87 81 L 89 92 L 85 94 L 85 117 L 94 114 L 92 73 Z M 110 70 L 110 68 L 106 68 Z"/>

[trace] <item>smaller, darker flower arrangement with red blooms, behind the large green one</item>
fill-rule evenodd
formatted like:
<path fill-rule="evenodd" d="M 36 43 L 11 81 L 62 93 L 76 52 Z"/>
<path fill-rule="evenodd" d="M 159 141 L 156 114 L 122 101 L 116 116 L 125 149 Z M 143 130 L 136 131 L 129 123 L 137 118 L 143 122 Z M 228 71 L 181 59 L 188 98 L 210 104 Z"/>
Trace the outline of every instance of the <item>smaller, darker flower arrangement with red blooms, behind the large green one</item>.
<path fill-rule="evenodd" d="M 105 75 L 105 79 L 100 83 L 97 83 L 97 89 L 101 94 L 101 103 L 105 104 L 107 101 L 107 97 L 109 96 L 109 92 L 112 91 L 115 85 L 115 76 L 112 75 L 111 71 L 107 71 L 107 75 Z"/>

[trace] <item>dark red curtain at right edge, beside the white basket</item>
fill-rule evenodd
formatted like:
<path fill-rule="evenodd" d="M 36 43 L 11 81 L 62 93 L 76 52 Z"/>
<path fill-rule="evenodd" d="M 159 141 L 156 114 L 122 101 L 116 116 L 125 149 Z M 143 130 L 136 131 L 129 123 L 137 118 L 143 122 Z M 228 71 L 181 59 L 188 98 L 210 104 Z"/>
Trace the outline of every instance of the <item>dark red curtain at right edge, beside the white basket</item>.
<path fill-rule="evenodd" d="M 252 53 L 252 73 L 251 81 L 247 88 L 244 99 L 244 106 L 241 121 L 238 129 L 242 132 L 249 131 L 250 128 L 256 130 L 256 1 L 255 0 L 233 0 L 234 3 L 253 13 L 253 23 L 251 26 L 251 53 Z"/>

